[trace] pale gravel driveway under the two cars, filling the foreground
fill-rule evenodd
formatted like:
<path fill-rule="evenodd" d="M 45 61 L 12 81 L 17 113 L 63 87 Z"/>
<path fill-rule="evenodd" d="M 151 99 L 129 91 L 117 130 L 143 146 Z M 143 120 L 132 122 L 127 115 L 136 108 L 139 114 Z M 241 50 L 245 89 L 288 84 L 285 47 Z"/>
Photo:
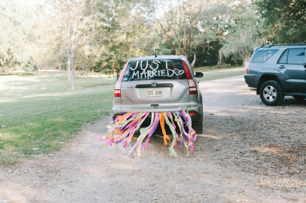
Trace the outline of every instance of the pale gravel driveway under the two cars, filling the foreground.
<path fill-rule="evenodd" d="M 203 134 L 169 155 L 159 136 L 141 158 L 101 148 L 105 117 L 52 156 L 0 166 L 3 202 L 306 202 L 306 104 L 265 106 L 243 76 L 201 82 Z"/>

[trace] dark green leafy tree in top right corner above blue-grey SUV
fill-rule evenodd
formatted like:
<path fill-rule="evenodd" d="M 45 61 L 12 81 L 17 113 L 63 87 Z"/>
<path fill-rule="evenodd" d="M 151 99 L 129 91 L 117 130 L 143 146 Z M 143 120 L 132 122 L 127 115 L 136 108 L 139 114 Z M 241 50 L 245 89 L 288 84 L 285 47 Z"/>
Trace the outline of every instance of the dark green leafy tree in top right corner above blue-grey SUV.
<path fill-rule="evenodd" d="M 266 43 L 306 42 L 306 1 L 257 1 L 264 20 Z"/>

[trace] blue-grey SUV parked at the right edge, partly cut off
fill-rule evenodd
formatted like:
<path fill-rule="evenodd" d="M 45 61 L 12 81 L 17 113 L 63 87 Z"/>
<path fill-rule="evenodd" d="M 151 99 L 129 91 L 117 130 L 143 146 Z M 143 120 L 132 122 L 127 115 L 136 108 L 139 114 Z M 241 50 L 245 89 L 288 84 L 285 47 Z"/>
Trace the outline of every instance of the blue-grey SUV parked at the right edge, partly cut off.
<path fill-rule="evenodd" d="M 278 44 L 255 49 L 244 78 L 266 105 L 281 104 L 284 96 L 305 98 L 305 48 L 306 44 Z"/>

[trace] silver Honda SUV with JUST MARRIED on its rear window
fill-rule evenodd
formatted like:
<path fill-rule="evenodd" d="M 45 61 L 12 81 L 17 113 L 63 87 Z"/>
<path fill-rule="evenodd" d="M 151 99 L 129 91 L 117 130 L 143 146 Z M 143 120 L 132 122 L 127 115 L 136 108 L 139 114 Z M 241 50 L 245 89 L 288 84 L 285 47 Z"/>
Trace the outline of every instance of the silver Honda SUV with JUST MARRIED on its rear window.
<path fill-rule="evenodd" d="M 192 127 L 202 133 L 202 96 L 196 77 L 184 55 L 155 55 L 129 60 L 115 85 L 113 120 L 126 112 L 189 109 Z"/>

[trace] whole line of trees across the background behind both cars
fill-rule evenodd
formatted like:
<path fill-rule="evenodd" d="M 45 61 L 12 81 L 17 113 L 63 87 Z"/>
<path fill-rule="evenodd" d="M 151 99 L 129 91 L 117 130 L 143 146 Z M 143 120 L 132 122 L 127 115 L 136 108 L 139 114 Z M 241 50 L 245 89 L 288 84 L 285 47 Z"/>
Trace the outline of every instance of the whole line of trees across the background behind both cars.
<path fill-rule="evenodd" d="M 0 72 L 119 74 L 127 59 L 155 50 L 196 53 L 195 67 L 246 65 L 256 46 L 306 41 L 303 0 L 33 2 L 0 1 Z"/>

